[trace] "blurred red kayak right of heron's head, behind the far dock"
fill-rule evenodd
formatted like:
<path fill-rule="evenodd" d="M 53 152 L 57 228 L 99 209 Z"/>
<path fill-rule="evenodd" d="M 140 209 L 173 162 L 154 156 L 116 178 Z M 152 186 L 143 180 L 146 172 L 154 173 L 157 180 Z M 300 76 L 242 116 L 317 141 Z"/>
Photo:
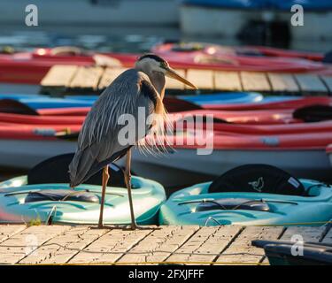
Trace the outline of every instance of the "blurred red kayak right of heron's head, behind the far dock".
<path fill-rule="evenodd" d="M 321 62 L 296 57 L 293 52 L 287 57 L 249 56 L 236 54 L 234 50 L 218 45 L 203 44 L 199 48 L 190 49 L 181 48 L 181 44 L 175 43 L 156 45 L 151 51 L 166 58 L 170 65 L 177 68 L 285 73 L 323 72 L 330 69 Z"/>

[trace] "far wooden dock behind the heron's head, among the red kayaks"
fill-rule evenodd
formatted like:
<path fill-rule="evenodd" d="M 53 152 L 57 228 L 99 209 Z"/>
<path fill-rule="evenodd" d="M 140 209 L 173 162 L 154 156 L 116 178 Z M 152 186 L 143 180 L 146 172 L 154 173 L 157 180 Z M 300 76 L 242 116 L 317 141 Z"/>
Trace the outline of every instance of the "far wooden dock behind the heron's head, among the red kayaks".
<path fill-rule="evenodd" d="M 43 78 L 42 93 L 101 92 L 125 68 L 100 66 L 55 65 Z M 259 91 L 274 94 L 328 96 L 332 95 L 332 76 L 311 73 L 256 73 L 212 70 L 176 70 L 192 81 L 201 91 Z M 169 93 L 191 92 L 179 81 L 166 78 Z"/>

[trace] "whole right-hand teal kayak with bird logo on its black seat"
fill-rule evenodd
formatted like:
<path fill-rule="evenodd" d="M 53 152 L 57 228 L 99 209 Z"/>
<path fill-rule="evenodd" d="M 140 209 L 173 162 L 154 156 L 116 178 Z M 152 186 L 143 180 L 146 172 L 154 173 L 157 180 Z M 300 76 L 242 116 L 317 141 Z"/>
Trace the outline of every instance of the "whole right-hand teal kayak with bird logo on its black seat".
<path fill-rule="evenodd" d="M 181 189 L 159 213 L 161 225 L 321 226 L 330 219 L 331 186 L 267 165 L 243 165 Z"/>

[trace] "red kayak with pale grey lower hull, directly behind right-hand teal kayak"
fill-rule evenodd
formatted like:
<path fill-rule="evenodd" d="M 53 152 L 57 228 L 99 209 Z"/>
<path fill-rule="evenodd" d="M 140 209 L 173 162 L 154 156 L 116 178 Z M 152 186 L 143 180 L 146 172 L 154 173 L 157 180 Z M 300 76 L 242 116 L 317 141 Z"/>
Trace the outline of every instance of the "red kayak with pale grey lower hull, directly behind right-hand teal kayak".
<path fill-rule="evenodd" d="M 288 134 L 212 134 L 209 131 L 203 135 L 176 134 L 168 140 L 172 149 L 163 158 L 134 149 L 132 168 L 144 178 L 153 178 L 166 187 L 211 180 L 235 166 L 255 163 L 271 164 L 299 177 L 328 180 L 331 166 L 326 147 L 331 142 L 331 130 Z"/>

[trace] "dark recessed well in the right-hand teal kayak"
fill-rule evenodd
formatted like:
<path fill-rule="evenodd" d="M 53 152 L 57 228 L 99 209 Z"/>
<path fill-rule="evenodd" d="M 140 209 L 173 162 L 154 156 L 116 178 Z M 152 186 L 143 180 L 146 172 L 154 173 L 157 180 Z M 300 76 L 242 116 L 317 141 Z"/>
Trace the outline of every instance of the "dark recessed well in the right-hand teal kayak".
<path fill-rule="evenodd" d="M 256 210 L 270 211 L 267 203 L 246 198 L 222 198 L 205 200 L 197 205 L 196 211 L 206 210 Z"/>

